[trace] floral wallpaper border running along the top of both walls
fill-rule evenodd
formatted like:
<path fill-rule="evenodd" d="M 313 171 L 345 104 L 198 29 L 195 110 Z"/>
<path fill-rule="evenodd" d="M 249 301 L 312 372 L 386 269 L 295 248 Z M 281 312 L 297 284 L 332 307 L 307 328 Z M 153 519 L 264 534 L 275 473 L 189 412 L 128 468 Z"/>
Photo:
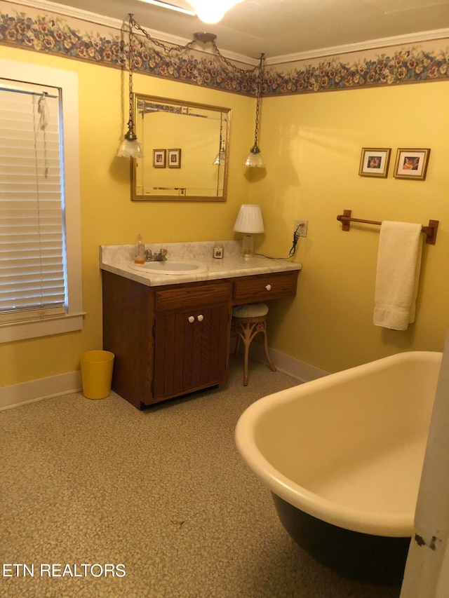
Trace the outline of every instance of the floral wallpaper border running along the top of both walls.
<path fill-rule="evenodd" d="M 81 19 L 0 1 L 0 45 L 127 68 L 128 34 L 97 23 L 90 25 L 93 31 L 87 31 L 88 22 Z M 165 53 L 137 35 L 132 50 L 135 70 L 140 73 L 244 95 L 255 93 L 253 69 L 248 65 L 236 63 L 239 69 L 248 68 L 248 74 L 234 72 L 215 55 L 192 48 Z M 364 50 L 266 67 L 262 94 L 279 96 L 447 81 L 448 65 L 449 39 Z"/>

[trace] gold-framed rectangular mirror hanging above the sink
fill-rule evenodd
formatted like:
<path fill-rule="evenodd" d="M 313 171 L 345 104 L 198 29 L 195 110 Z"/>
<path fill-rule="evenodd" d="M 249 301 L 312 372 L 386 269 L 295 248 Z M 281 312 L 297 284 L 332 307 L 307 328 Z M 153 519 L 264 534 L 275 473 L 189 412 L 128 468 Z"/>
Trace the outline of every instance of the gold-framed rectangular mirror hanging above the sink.
<path fill-rule="evenodd" d="M 231 109 L 133 94 L 133 201 L 226 201 Z"/>

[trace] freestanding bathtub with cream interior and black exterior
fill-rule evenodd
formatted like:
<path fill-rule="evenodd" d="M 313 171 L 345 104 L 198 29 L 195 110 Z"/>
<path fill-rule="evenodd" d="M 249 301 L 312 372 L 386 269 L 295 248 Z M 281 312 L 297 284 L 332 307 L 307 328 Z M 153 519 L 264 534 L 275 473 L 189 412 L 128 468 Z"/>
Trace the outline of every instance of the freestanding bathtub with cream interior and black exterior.
<path fill-rule="evenodd" d="M 323 564 L 401 583 L 442 353 L 398 353 L 257 400 L 236 445 Z"/>

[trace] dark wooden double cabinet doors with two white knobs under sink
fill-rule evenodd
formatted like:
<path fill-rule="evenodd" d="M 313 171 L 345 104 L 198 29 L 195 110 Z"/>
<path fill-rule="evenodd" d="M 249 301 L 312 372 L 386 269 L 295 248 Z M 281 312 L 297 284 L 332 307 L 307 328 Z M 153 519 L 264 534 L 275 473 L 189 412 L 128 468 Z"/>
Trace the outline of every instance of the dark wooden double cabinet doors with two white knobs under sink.
<path fill-rule="evenodd" d="M 229 306 L 156 315 L 154 398 L 169 398 L 224 382 Z"/>

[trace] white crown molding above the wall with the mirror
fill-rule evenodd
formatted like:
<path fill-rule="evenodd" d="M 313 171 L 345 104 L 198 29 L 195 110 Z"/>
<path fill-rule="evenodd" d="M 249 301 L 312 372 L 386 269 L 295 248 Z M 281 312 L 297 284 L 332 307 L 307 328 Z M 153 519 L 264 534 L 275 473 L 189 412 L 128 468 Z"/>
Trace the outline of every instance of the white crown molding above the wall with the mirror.
<path fill-rule="evenodd" d="M 119 20 L 113 19 L 110 17 L 105 17 L 103 15 L 98 15 L 97 13 L 91 13 L 90 11 L 83 11 L 81 8 L 73 8 L 72 6 L 66 6 L 65 4 L 58 4 L 57 2 L 51 2 L 47 0 L 18 0 L 15 2 L 11 0 L 13 4 L 20 4 L 20 6 L 29 6 L 31 8 L 38 8 L 39 10 L 58 13 L 58 15 L 62 15 L 65 17 L 72 17 L 75 19 L 87 21 L 90 23 L 95 23 L 96 25 L 103 25 L 105 27 L 110 27 L 111 29 L 123 29 L 123 25 L 128 24 L 128 13 L 126 20 Z M 140 23 L 139 23 L 140 25 Z M 150 36 L 154 37 L 158 41 L 163 41 L 166 43 L 173 43 L 174 46 L 185 46 L 186 43 L 192 41 L 193 36 L 191 39 L 185 39 L 183 37 L 179 37 L 176 35 L 170 35 L 166 32 L 156 31 L 156 29 L 149 29 L 148 27 L 142 27 L 147 31 Z M 212 49 L 210 48 L 195 48 L 199 52 L 203 52 L 206 54 L 215 55 Z M 228 52 L 226 50 L 221 50 L 220 53 L 227 57 L 227 59 L 232 60 L 233 62 L 242 62 L 243 64 L 249 64 L 251 66 L 256 66 L 259 64 L 259 60 L 245 56 L 243 54 L 238 54 L 235 52 Z"/>

